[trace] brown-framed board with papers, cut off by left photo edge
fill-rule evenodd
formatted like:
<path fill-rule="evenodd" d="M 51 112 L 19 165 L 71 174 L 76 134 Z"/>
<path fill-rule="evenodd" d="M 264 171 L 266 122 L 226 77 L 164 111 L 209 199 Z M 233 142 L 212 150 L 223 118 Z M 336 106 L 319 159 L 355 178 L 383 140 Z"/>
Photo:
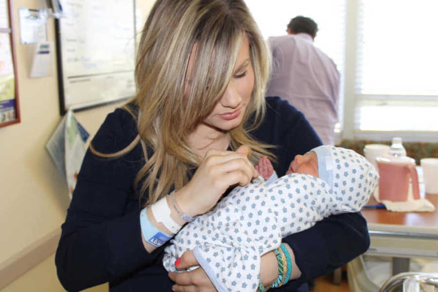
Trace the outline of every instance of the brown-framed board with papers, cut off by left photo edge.
<path fill-rule="evenodd" d="M 20 122 L 12 0 L 0 0 L 0 127 Z"/>

